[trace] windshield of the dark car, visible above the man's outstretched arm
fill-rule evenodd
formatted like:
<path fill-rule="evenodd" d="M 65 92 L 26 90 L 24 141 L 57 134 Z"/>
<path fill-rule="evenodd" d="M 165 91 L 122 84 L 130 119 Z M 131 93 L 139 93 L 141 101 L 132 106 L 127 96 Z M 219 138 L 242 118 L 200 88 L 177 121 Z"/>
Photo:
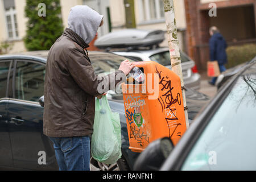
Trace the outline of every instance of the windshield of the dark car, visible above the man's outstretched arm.
<path fill-rule="evenodd" d="M 108 74 L 111 69 L 117 71 L 123 60 L 127 59 L 123 56 L 114 55 L 112 53 L 99 53 L 89 55 L 90 61 L 96 75 Z M 130 61 L 134 61 L 129 59 Z"/>

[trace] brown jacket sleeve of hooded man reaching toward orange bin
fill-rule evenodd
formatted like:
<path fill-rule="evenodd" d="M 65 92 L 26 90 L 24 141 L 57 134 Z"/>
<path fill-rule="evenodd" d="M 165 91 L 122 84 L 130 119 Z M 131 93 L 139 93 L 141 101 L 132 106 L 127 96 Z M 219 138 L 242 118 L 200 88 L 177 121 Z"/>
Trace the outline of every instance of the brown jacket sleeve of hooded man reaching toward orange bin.
<path fill-rule="evenodd" d="M 78 49 L 71 49 L 67 56 L 67 69 L 76 83 L 84 92 L 91 96 L 98 96 L 108 90 L 114 90 L 125 81 L 125 73 L 115 71 L 106 76 L 97 76 L 90 61 Z"/>

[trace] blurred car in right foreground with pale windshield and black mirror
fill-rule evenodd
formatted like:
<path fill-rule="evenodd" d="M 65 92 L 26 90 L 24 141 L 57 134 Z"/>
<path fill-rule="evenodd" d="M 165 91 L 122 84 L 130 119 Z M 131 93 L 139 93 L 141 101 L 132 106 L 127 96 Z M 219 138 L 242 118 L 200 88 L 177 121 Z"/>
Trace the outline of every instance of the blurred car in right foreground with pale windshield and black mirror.
<path fill-rule="evenodd" d="M 255 171 L 255 111 L 256 59 L 226 81 L 174 148 L 171 142 L 165 143 L 171 152 L 158 169 Z M 156 144 L 160 150 L 164 143 Z M 154 159 L 144 157 L 139 156 L 138 167 L 143 163 L 154 166 Z M 157 155 L 154 158 L 159 159 Z"/>

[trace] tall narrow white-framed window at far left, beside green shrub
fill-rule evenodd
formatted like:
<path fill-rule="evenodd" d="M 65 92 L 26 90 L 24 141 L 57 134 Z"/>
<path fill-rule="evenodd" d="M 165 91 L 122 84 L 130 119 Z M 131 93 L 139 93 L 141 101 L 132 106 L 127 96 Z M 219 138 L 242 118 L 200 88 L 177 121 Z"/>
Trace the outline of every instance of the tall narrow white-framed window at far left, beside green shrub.
<path fill-rule="evenodd" d="M 14 0 L 3 0 L 3 5 L 5 6 L 5 18 L 8 38 L 18 39 L 19 32 Z"/>

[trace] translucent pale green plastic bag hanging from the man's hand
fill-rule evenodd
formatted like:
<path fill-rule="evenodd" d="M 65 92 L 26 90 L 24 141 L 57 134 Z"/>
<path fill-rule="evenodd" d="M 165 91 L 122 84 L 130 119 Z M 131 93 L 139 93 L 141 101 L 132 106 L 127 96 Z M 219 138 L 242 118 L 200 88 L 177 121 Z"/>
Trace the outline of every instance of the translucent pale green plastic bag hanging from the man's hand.
<path fill-rule="evenodd" d="M 108 99 L 97 98 L 92 135 L 92 157 L 99 162 L 114 164 L 121 158 L 121 125 L 118 113 L 112 113 Z"/>

